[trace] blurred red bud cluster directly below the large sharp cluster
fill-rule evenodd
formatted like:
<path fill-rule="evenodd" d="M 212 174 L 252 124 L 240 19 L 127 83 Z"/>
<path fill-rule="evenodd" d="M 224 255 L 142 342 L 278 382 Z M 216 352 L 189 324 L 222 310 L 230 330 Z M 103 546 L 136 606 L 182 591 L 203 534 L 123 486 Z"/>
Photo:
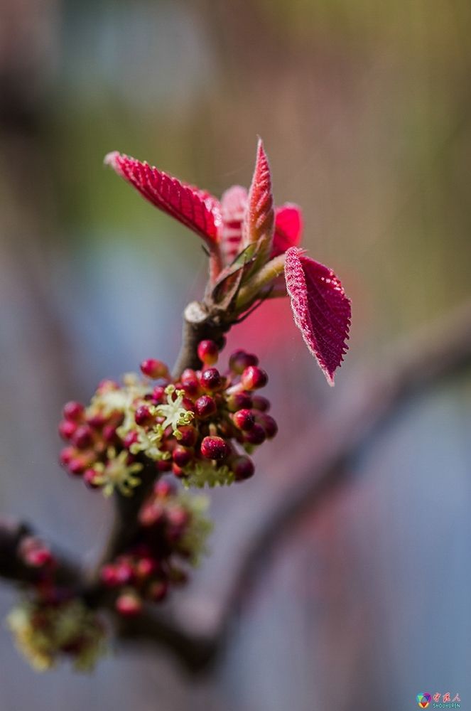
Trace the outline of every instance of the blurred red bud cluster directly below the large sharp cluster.
<path fill-rule="evenodd" d="M 134 545 L 102 567 L 102 582 L 117 589 L 115 608 L 120 614 L 138 614 L 144 600 L 160 602 L 169 587 L 187 581 L 182 563 L 198 564 L 212 530 L 206 508 L 204 496 L 177 493 L 162 479 L 155 484 L 139 512 Z"/>

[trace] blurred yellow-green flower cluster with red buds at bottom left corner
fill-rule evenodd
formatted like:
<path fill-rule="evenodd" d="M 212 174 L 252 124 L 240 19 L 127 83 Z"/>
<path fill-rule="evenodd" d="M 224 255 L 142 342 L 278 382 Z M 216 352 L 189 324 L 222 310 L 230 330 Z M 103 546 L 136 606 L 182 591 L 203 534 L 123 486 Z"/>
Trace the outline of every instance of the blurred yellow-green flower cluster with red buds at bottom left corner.
<path fill-rule="evenodd" d="M 70 589 L 56 584 L 57 561 L 40 539 L 24 536 L 17 555 L 34 573 L 31 590 L 6 618 L 19 651 L 38 671 L 60 658 L 70 659 L 76 670 L 92 670 L 107 652 L 102 620 Z"/>

